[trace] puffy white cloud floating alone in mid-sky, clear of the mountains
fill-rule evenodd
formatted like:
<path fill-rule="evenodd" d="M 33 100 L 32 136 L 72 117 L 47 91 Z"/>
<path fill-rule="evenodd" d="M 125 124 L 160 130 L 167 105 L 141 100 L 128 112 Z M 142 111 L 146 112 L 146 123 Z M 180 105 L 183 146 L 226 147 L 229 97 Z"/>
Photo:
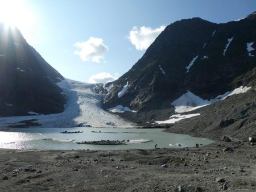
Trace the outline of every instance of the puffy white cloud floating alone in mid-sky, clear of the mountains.
<path fill-rule="evenodd" d="M 104 57 L 104 53 L 109 50 L 103 43 L 103 39 L 96 37 L 90 37 L 84 42 L 76 42 L 74 47 L 80 49 L 75 51 L 75 55 L 79 55 L 81 60 L 91 60 L 93 62 L 100 62 L 100 59 Z"/>

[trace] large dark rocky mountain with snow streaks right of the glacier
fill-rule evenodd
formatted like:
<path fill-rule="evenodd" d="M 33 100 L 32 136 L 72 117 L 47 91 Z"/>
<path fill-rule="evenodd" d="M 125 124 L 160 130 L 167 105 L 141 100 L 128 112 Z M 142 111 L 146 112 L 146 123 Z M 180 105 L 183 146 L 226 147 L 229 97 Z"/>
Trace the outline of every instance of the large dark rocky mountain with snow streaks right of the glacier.
<path fill-rule="evenodd" d="M 249 52 L 252 42 L 254 49 Z M 113 82 L 104 106 L 130 107 L 137 114 L 129 113 L 129 119 L 143 122 L 168 118 L 174 112 L 171 102 L 187 90 L 212 99 L 240 86 L 255 87 L 255 43 L 256 12 L 221 24 L 200 18 L 174 22 L 129 72 Z M 127 90 L 119 98 L 125 85 Z"/>

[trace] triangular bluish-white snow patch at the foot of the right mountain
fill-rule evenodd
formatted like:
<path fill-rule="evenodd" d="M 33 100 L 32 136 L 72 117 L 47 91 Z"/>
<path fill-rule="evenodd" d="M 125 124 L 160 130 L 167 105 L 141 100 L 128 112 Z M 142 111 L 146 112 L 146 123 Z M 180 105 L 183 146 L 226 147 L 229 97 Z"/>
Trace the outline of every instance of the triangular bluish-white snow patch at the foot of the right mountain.
<path fill-rule="evenodd" d="M 210 103 L 211 102 L 193 94 L 191 91 L 187 91 L 187 93 L 181 95 L 180 98 L 172 102 L 171 105 L 175 106 L 175 112 L 187 112 L 207 106 Z"/>

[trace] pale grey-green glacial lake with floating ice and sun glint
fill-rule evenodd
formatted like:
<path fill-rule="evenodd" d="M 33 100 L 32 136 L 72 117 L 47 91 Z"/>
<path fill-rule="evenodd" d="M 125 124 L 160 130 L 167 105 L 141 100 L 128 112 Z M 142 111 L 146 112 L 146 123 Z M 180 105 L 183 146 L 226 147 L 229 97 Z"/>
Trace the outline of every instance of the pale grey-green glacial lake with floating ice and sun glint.
<path fill-rule="evenodd" d="M 82 133 L 60 133 L 62 131 L 82 131 Z M 61 141 L 65 139 L 75 141 Z M 126 145 L 89 145 L 76 143 L 94 140 L 152 141 Z M 0 131 L 0 148 L 7 149 L 152 149 L 155 147 L 155 144 L 158 144 L 157 147 L 159 148 L 182 148 L 195 147 L 196 143 L 203 146 L 213 142 L 213 140 L 200 137 L 164 132 L 163 129 L 160 128 L 10 128 L 9 131 Z"/>

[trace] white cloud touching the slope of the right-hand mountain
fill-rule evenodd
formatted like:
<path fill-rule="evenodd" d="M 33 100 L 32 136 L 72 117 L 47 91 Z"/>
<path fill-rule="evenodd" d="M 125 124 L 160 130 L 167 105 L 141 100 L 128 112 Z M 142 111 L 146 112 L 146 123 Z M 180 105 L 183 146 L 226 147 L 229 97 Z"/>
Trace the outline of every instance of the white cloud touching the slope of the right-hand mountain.
<path fill-rule="evenodd" d="M 166 28 L 160 26 L 159 28 L 152 29 L 151 27 L 142 26 L 141 28 L 133 27 L 129 33 L 129 40 L 137 50 L 147 49 L 155 38 Z"/>

